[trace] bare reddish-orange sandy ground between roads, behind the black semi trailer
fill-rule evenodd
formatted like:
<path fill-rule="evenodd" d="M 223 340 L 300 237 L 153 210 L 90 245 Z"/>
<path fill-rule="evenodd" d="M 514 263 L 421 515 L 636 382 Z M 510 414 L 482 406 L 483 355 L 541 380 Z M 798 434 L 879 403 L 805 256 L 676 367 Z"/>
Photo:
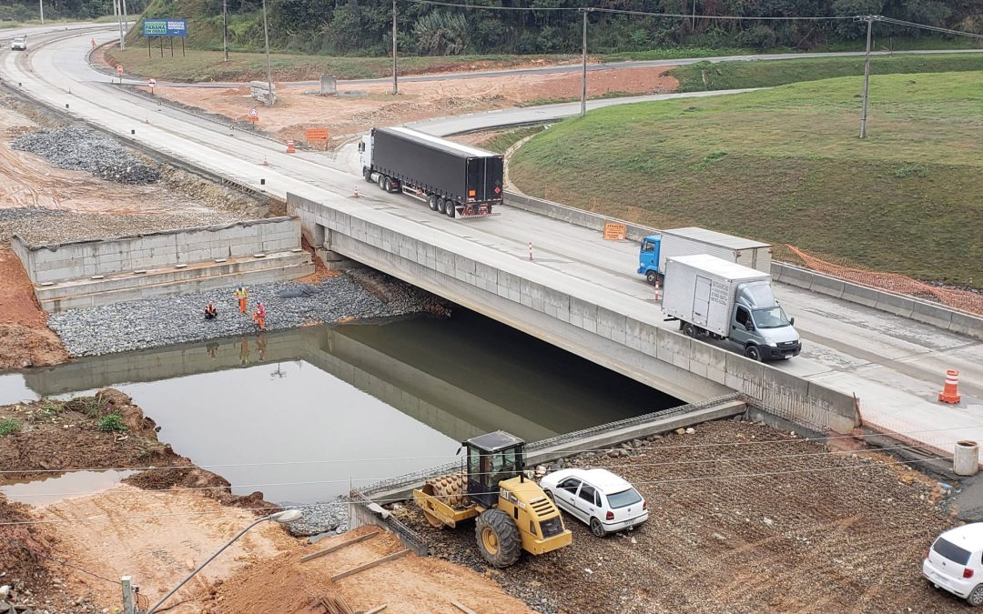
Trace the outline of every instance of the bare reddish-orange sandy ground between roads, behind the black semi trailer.
<path fill-rule="evenodd" d="M 678 83 L 665 76 L 666 70 L 657 67 L 592 72 L 588 96 L 672 91 Z M 374 126 L 576 98 L 580 96 L 580 75 L 406 82 L 400 84 L 396 99 L 391 95 L 391 84 L 341 85 L 338 91 L 337 96 L 319 96 L 311 86 L 277 84 L 277 105 L 272 109 L 259 108 L 257 128 L 285 140 L 303 140 L 306 128 L 327 128 L 335 139 Z M 157 87 L 155 93 L 242 122 L 257 106 L 248 87 Z"/>

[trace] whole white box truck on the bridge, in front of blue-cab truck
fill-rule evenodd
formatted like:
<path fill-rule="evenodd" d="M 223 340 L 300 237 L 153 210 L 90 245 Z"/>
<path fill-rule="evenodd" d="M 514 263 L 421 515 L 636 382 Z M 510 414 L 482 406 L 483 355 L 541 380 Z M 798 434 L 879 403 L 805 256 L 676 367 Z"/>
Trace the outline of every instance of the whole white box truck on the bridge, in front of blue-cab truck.
<path fill-rule="evenodd" d="M 772 294 L 772 276 L 707 253 L 665 260 L 663 311 L 689 337 L 726 340 L 754 361 L 790 359 L 802 341 Z"/>

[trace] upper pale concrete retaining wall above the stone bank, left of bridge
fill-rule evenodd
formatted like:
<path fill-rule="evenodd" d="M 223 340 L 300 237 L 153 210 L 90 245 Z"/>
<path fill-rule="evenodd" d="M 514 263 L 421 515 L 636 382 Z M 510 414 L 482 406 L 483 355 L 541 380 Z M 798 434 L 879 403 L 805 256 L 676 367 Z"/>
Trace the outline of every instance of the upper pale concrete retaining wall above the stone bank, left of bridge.
<path fill-rule="evenodd" d="M 15 235 L 14 251 L 34 285 L 195 264 L 300 248 L 295 217 L 166 230 L 133 237 L 33 246 Z"/>

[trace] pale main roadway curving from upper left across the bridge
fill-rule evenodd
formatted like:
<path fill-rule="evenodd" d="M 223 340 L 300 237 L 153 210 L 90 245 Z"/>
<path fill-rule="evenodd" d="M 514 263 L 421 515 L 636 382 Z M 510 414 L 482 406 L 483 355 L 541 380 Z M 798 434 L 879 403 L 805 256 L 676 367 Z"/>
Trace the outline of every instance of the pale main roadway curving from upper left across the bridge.
<path fill-rule="evenodd" d="M 91 71 L 85 60 L 89 35 L 62 37 L 29 54 L 0 52 L 0 70 L 5 80 L 22 82 L 29 95 L 59 109 L 70 104 L 75 117 L 123 140 L 140 140 L 262 192 L 330 201 L 400 232 L 441 237 L 479 258 L 521 261 L 530 275 L 547 276 L 559 289 L 588 284 L 605 303 L 662 326 L 674 325 L 662 321 L 651 287 L 635 274 L 637 245 L 631 242 L 605 242 L 593 231 L 507 207 L 497 217 L 450 220 L 416 200 L 378 193 L 352 168 L 351 157 L 288 155 L 273 141 L 230 135 L 216 123 L 173 109 L 158 111 L 152 102 L 104 83 L 104 76 Z M 96 34 L 96 40 L 111 37 Z M 545 117 L 562 117 L 566 110 L 561 107 Z M 468 117 L 472 127 L 489 121 Z M 260 179 L 266 180 L 264 186 Z M 355 189 L 361 198 L 352 197 Z M 537 253 L 533 262 L 528 260 L 530 242 Z M 855 393 L 864 419 L 918 441 L 951 449 L 959 439 L 983 440 L 983 342 L 781 284 L 776 294 L 795 316 L 805 341 L 803 354 L 778 368 Z M 959 406 L 936 402 L 947 368 L 960 370 Z"/>

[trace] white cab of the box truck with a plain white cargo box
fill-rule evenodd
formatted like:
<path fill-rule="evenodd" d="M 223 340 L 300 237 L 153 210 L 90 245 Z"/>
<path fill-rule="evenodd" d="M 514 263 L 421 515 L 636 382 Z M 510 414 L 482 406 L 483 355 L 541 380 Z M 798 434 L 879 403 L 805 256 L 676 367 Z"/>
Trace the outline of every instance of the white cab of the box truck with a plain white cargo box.
<path fill-rule="evenodd" d="M 730 341 L 744 348 L 744 356 L 755 361 L 790 359 L 802 351 L 795 318 L 785 315 L 768 282 L 737 287 L 730 314 Z"/>

